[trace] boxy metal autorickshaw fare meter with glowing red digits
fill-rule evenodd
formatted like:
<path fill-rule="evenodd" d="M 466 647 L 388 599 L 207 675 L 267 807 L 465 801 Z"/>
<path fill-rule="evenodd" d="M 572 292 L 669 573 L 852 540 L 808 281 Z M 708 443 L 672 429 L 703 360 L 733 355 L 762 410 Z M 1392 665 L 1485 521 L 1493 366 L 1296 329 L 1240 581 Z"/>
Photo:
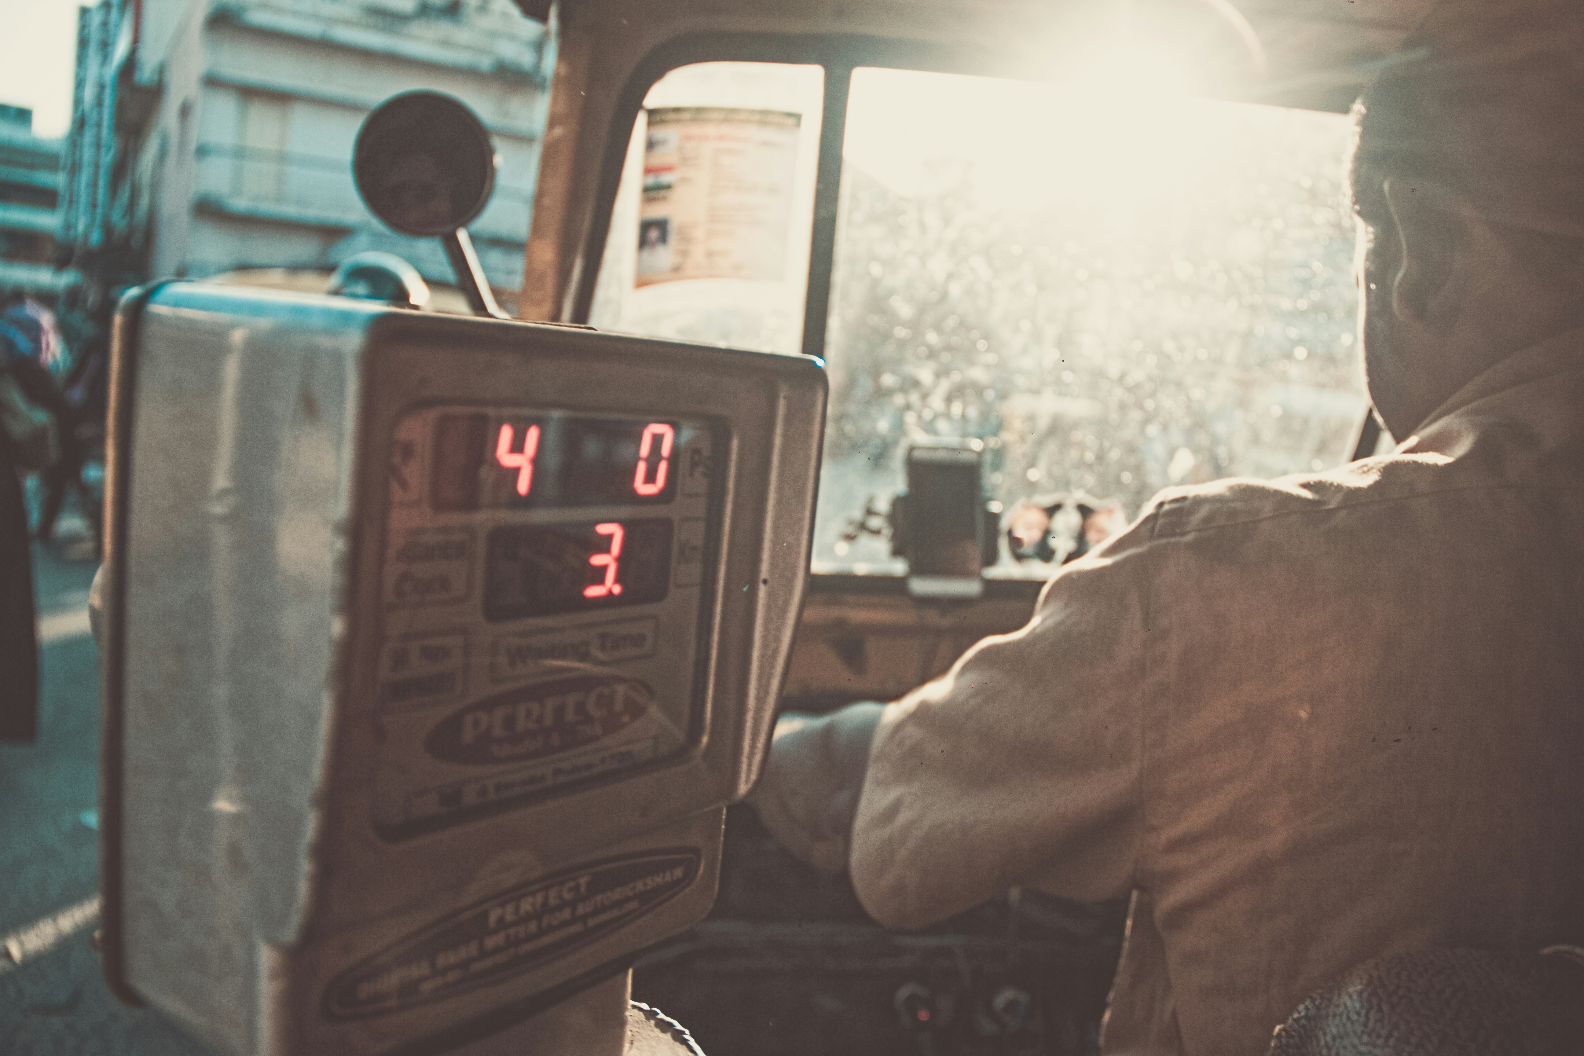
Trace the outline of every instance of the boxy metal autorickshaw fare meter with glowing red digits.
<path fill-rule="evenodd" d="M 176 282 L 112 388 L 117 993 L 228 1053 L 434 1051 L 708 910 L 819 361 Z"/>

